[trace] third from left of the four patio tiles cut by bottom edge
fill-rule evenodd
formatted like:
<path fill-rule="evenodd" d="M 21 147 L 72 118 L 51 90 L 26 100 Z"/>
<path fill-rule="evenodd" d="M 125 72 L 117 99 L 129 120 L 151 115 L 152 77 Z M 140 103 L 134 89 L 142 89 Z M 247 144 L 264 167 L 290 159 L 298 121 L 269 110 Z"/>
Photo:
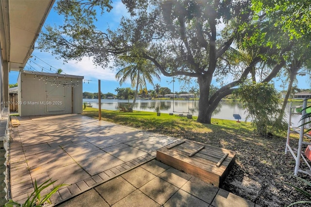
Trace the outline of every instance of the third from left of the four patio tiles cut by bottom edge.
<path fill-rule="evenodd" d="M 193 207 L 209 207 L 209 204 L 206 202 L 183 190 L 178 190 L 172 198 L 164 204 L 164 207 L 189 207 L 190 204 Z"/>

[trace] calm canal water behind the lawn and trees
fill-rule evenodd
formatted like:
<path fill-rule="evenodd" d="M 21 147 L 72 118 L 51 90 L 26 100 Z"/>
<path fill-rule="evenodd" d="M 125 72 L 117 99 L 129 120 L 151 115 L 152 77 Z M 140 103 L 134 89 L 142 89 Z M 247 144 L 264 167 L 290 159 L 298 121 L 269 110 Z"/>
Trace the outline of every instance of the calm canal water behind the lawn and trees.
<path fill-rule="evenodd" d="M 83 102 L 91 104 L 94 108 L 98 108 L 97 99 L 83 99 Z M 128 108 L 132 102 L 133 100 L 102 99 L 101 107 L 107 110 L 119 110 L 119 106 Z M 136 100 L 133 110 L 156 112 L 155 108 L 159 107 L 161 113 L 184 115 L 189 113 L 193 116 L 198 116 L 198 105 L 199 101 L 192 100 Z M 289 105 L 285 111 L 288 117 Z M 220 102 L 212 118 L 235 120 L 233 114 L 240 114 L 242 118 L 240 121 L 245 121 L 247 111 L 242 109 L 242 105 L 239 102 Z M 301 115 L 292 115 L 292 123 L 294 126 L 299 125 L 300 117 Z M 288 118 L 286 118 L 286 120 L 288 120 Z"/>

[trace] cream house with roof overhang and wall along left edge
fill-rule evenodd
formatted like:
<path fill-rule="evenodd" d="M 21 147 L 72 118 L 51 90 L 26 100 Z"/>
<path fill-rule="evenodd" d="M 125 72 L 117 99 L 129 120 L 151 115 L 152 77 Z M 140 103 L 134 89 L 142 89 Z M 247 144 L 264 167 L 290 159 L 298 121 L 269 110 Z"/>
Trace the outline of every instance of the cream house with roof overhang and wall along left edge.
<path fill-rule="evenodd" d="M 9 72 L 24 69 L 55 0 L 0 0 L 0 174 L 7 176 Z M 4 159 L 3 159 L 4 158 Z M 2 166 L 2 167 L 1 167 Z M 10 199 L 7 177 L 0 180 L 0 206 Z"/>

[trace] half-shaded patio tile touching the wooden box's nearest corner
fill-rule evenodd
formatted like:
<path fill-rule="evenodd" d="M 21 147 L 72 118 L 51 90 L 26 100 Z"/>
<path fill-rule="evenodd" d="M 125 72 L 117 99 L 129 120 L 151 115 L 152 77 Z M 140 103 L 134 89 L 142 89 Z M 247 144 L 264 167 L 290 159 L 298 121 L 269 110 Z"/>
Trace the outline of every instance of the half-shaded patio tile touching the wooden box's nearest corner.
<path fill-rule="evenodd" d="M 191 177 L 191 179 L 183 187 L 181 187 L 181 189 L 209 204 L 212 203 L 213 198 L 218 192 L 217 187 L 205 183 L 197 177 Z"/>

